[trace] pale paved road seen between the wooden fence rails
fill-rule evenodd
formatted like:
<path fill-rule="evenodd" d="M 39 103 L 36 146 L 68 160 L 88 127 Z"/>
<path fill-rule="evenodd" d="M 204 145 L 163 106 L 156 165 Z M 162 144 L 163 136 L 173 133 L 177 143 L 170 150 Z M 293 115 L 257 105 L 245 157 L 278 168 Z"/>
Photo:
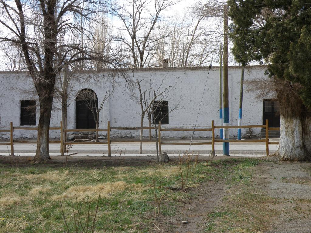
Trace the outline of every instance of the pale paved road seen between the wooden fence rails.
<path fill-rule="evenodd" d="M 275 140 L 275 139 L 274 139 Z M 50 153 L 59 153 L 59 143 L 51 143 L 49 145 Z M 215 144 L 216 154 L 222 154 L 222 143 Z M 269 145 L 270 153 L 273 153 L 278 148 L 278 145 Z M 0 153 L 8 154 L 10 150 L 10 145 L 0 145 Z M 14 143 L 14 152 L 15 153 L 35 153 L 36 143 Z M 120 143 L 112 144 L 111 152 L 113 154 L 120 153 L 126 154 L 137 154 L 139 152 L 138 143 Z M 189 150 L 189 145 L 162 145 L 162 151 L 166 151 L 169 154 L 178 154 L 183 153 L 185 150 Z M 190 150 L 194 150 L 200 154 L 210 154 L 211 145 L 191 145 Z M 118 151 L 118 152 L 117 152 Z M 108 145 L 72 145 L 70 153 L 77 152 L 78 154 L 107 154 Z M 156 153 L 156 147 L 154 143 L 144 143 L 143 144 L 143 153 L 154 154 Z M 248 154 L 248 155 L 264 155 L 266 154 L 266 145 L 263 142 L 259 143 L 230 143 L 230 154 Z"/>

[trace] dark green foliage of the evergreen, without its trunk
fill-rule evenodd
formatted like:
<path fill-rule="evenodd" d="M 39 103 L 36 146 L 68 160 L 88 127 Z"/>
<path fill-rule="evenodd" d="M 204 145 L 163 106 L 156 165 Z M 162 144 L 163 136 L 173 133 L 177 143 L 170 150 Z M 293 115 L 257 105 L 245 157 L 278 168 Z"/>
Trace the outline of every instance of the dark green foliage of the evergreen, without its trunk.
<path fill-rule="evenodd" d="M 229 0 L 233 53 L 238 62 L 264 60 L 269 75 L 299 84 L 311 107 L 311 1 Z"/>

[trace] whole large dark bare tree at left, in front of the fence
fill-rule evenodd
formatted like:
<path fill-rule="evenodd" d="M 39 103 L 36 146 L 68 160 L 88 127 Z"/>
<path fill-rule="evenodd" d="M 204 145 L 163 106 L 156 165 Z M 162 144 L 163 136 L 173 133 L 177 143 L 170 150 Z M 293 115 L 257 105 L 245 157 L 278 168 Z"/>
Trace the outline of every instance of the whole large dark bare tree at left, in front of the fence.
<path fill-rule="evenodd" d="M 39 96 L 35 162 L 49 159 L 49 125 L 56 75 L 64 66 L 80 61 L 102 60 L 116 64 L 81 41 L 72 38 L 87 31 L 72 16 L 95 21 L 94 15 L 105 11 L 105 2 L 93 0 L 6 1 L 0 0 L 0 42 L 14 43 L 21 49 L 27 70 Z M 85 34 L 86 35 L 86 34 Z M 89 35 L 86 35 L 89 36 Z M 64 39 L 65 38 L 65 39 Z"/>

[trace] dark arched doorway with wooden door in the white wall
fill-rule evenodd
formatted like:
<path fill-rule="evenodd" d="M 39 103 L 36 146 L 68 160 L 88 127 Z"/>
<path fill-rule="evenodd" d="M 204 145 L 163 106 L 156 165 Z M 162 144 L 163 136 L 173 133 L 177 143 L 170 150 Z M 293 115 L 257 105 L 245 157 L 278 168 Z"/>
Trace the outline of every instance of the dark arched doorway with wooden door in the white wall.
<path fill-rule="evenodd" d="M 76 98 L 76 129 L 95 129 L 94 113 L 98 108 L 98 98 L 95 91 L 81 89 Z"/>

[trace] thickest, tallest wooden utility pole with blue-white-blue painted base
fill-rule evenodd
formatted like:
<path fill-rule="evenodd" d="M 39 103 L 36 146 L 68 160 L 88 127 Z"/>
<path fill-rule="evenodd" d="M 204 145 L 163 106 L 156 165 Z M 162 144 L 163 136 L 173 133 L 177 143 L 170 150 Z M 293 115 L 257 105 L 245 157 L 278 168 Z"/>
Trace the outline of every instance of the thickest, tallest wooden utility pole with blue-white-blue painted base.
<path fill-rule="evenodd" d="M 229 126 L 228 33 L 228 5 L 224 5 L 224 126 Z M 224 129 L 224 139 L 229 139 L 229 129 Z M 229 156 L 229 142 L 224 142 L 223 150 Z"/>

